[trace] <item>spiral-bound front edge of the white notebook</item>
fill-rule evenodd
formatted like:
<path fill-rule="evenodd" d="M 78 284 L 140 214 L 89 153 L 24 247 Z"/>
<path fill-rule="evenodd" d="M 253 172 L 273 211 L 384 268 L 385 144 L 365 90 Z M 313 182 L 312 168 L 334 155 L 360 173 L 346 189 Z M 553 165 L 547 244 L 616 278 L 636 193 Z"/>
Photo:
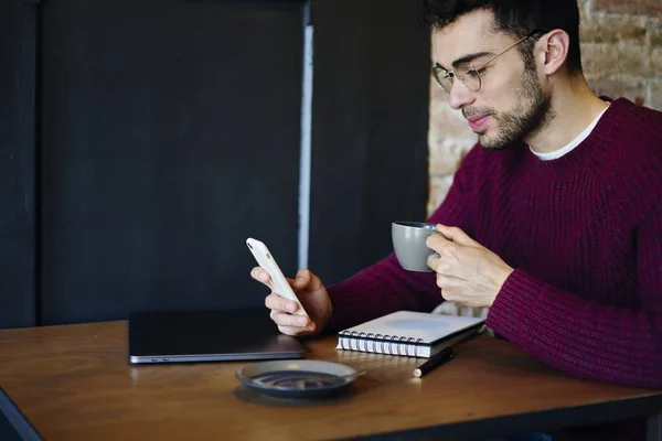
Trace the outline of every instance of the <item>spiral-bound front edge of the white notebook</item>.
<path fill-rule="evenodd" d="M 415 357 L 416 345 L 423 338 L 402 335 L 373 334 L 372 332 L 341 331 L 340 347 L 348 351 Z"/>

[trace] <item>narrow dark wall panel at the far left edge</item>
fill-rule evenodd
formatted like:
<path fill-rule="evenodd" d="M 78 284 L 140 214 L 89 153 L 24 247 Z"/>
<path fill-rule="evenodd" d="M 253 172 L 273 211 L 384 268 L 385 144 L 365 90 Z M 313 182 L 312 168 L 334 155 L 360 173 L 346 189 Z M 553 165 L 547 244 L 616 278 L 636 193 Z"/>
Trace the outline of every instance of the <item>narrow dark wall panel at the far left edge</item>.
<path fill-rule="evenodd" d="M 0 1 L 0 327 L 35 324 L 35 11 Z"/>

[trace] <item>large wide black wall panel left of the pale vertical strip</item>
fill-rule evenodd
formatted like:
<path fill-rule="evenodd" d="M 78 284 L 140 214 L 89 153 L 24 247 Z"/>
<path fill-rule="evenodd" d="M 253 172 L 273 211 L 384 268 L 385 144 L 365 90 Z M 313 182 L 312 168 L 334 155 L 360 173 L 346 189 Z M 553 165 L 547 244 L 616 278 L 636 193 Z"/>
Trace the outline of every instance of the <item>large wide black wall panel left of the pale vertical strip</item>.
<path fill-rule="evenodd" d="M 296 270 L 302 3 L 50 0 L 43 322 L 264 304 Z"/>

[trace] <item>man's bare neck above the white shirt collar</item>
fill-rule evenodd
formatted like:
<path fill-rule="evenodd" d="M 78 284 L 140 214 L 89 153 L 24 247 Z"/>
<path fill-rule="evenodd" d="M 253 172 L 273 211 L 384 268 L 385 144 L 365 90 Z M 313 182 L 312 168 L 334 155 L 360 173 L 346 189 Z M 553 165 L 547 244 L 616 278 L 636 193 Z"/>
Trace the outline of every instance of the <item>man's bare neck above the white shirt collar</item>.
<path fill-rule="evenodd" d="M 556 83 L 552 88 L 555 118 L 525 141 L 538 153 L 562 149 L 581 133 L 607 106 L 590 90 L 583 76 Z"/>

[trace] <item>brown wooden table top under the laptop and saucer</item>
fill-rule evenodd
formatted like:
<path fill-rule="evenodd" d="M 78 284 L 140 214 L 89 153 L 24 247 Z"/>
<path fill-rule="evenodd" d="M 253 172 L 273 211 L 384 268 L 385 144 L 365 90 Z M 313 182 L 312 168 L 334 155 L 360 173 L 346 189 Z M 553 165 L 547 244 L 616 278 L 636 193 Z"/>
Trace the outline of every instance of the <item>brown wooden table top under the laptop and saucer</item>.
<path fill-rule="evenodd" d="M 0 331 L 0 386 L 49 441 L 467 440 L 662 412 L 662 391 L 572 378 L 488 336 L 423 379 L 412 377 L 420 359 L 334 344 L 308 342 L 308 357 L 367 374 L 349 397 L 320 402 L 252 394 L 234 376 L 245 362 L 131 366 L 126 322 Z"/>

